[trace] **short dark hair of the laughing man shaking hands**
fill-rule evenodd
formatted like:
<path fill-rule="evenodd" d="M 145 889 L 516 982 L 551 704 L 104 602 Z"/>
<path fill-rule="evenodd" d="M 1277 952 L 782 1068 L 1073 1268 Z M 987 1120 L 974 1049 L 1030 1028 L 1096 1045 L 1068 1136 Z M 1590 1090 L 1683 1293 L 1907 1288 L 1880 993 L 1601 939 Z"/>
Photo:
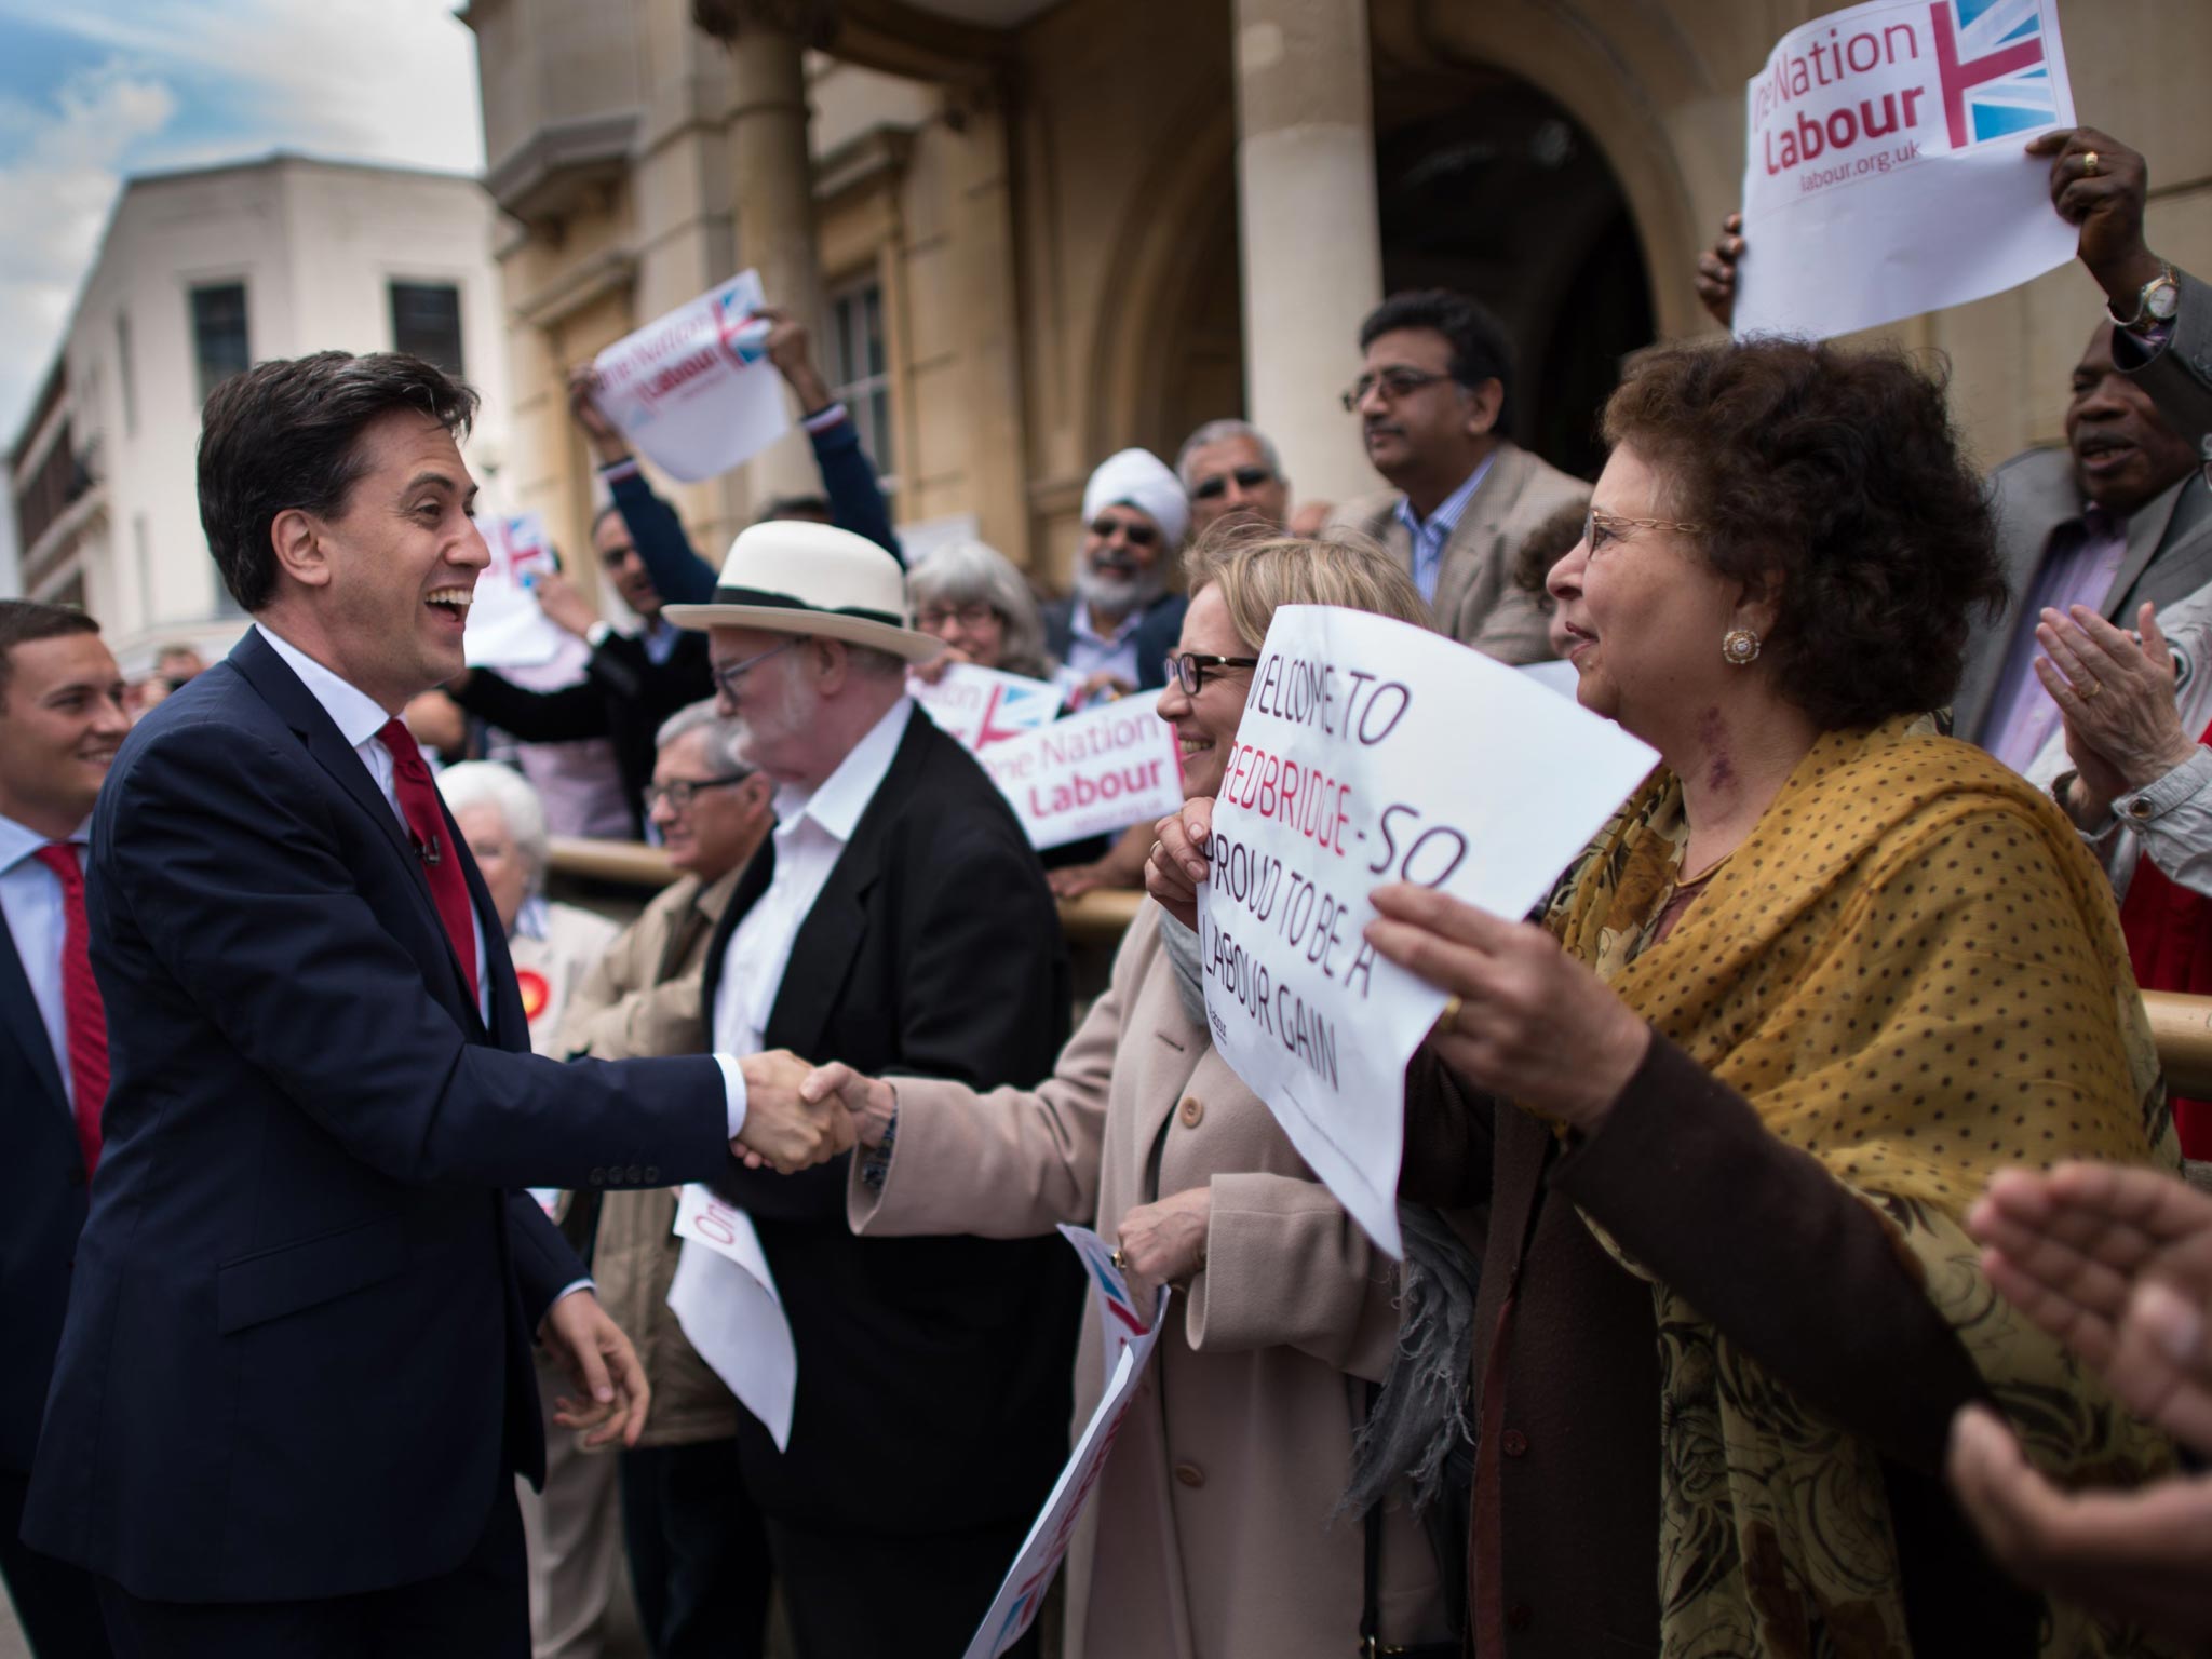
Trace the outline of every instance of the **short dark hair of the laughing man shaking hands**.
<path fill-rule="evenodd" d="M 367 471 L 361 431 L 394 409 L 416 409 L 458 440 L 476 392 L 405 352 L 276 358 L 215 387 L 199 422 L 199 524 L 239 606 L 261 611 L 276 593 L 276 515 L 343 513 Z"/>

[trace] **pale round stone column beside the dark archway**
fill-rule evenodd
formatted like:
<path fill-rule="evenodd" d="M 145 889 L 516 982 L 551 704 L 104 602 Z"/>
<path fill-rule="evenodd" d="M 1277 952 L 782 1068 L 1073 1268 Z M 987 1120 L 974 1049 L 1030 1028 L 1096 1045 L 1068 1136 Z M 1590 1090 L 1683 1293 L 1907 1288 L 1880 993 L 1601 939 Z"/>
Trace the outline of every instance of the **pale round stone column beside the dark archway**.
<path fill-rule="evenodd" d="M 1383 299 L 1367 0 L 1237 0 L 1245 411 L 1298 500 L 1383 480 L 1336 400 Z"/>

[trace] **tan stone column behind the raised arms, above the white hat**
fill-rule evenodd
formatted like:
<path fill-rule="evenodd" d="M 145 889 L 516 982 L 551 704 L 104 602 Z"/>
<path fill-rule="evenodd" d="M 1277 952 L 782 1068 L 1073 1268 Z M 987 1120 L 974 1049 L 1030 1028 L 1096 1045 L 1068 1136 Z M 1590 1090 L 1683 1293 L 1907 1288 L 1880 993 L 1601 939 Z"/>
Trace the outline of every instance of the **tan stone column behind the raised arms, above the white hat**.
<path fill-rule="evenodd" d="M 768 301 L 814 330 L 814 361 L 825 374 L 805 49 L 827 40 L 834 11 L 832 0 L 692 0 L 692 20 L 730 49 L 737 268 L 759 270 Z M 745 471 L 754 511 L 770 495 L 821 491 L 814 453 L 799 431 L 770 445 Z"/>

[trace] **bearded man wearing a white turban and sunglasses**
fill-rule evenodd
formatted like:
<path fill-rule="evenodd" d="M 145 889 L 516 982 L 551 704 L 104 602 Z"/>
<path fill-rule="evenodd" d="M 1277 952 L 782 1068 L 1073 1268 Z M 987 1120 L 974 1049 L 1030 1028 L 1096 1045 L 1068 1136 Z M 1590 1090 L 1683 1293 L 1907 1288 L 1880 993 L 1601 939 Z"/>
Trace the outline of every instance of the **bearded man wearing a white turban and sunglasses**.
<path fill-rule="evenodd" d="M 1075 597 L 1044 606 L 1044 641 L 1077 703 L 1166 684 L 1186 604 L 1168 593 L 1168 555 L 1188 529 L 1183 484 L 1150 449 L 1124 449 L 1091 473 Z"/>

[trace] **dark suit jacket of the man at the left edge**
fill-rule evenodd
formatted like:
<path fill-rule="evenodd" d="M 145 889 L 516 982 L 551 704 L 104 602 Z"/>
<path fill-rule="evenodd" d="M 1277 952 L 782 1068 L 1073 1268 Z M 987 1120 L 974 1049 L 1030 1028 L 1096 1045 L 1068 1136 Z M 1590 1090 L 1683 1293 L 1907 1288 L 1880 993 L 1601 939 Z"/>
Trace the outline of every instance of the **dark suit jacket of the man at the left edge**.
<path fill-rule="evenodd" d="M 84 1150 L 31 975 L 0 916 L 0 1469 L 31 1471 L 69 1263 L 84 1230 Z"/>

